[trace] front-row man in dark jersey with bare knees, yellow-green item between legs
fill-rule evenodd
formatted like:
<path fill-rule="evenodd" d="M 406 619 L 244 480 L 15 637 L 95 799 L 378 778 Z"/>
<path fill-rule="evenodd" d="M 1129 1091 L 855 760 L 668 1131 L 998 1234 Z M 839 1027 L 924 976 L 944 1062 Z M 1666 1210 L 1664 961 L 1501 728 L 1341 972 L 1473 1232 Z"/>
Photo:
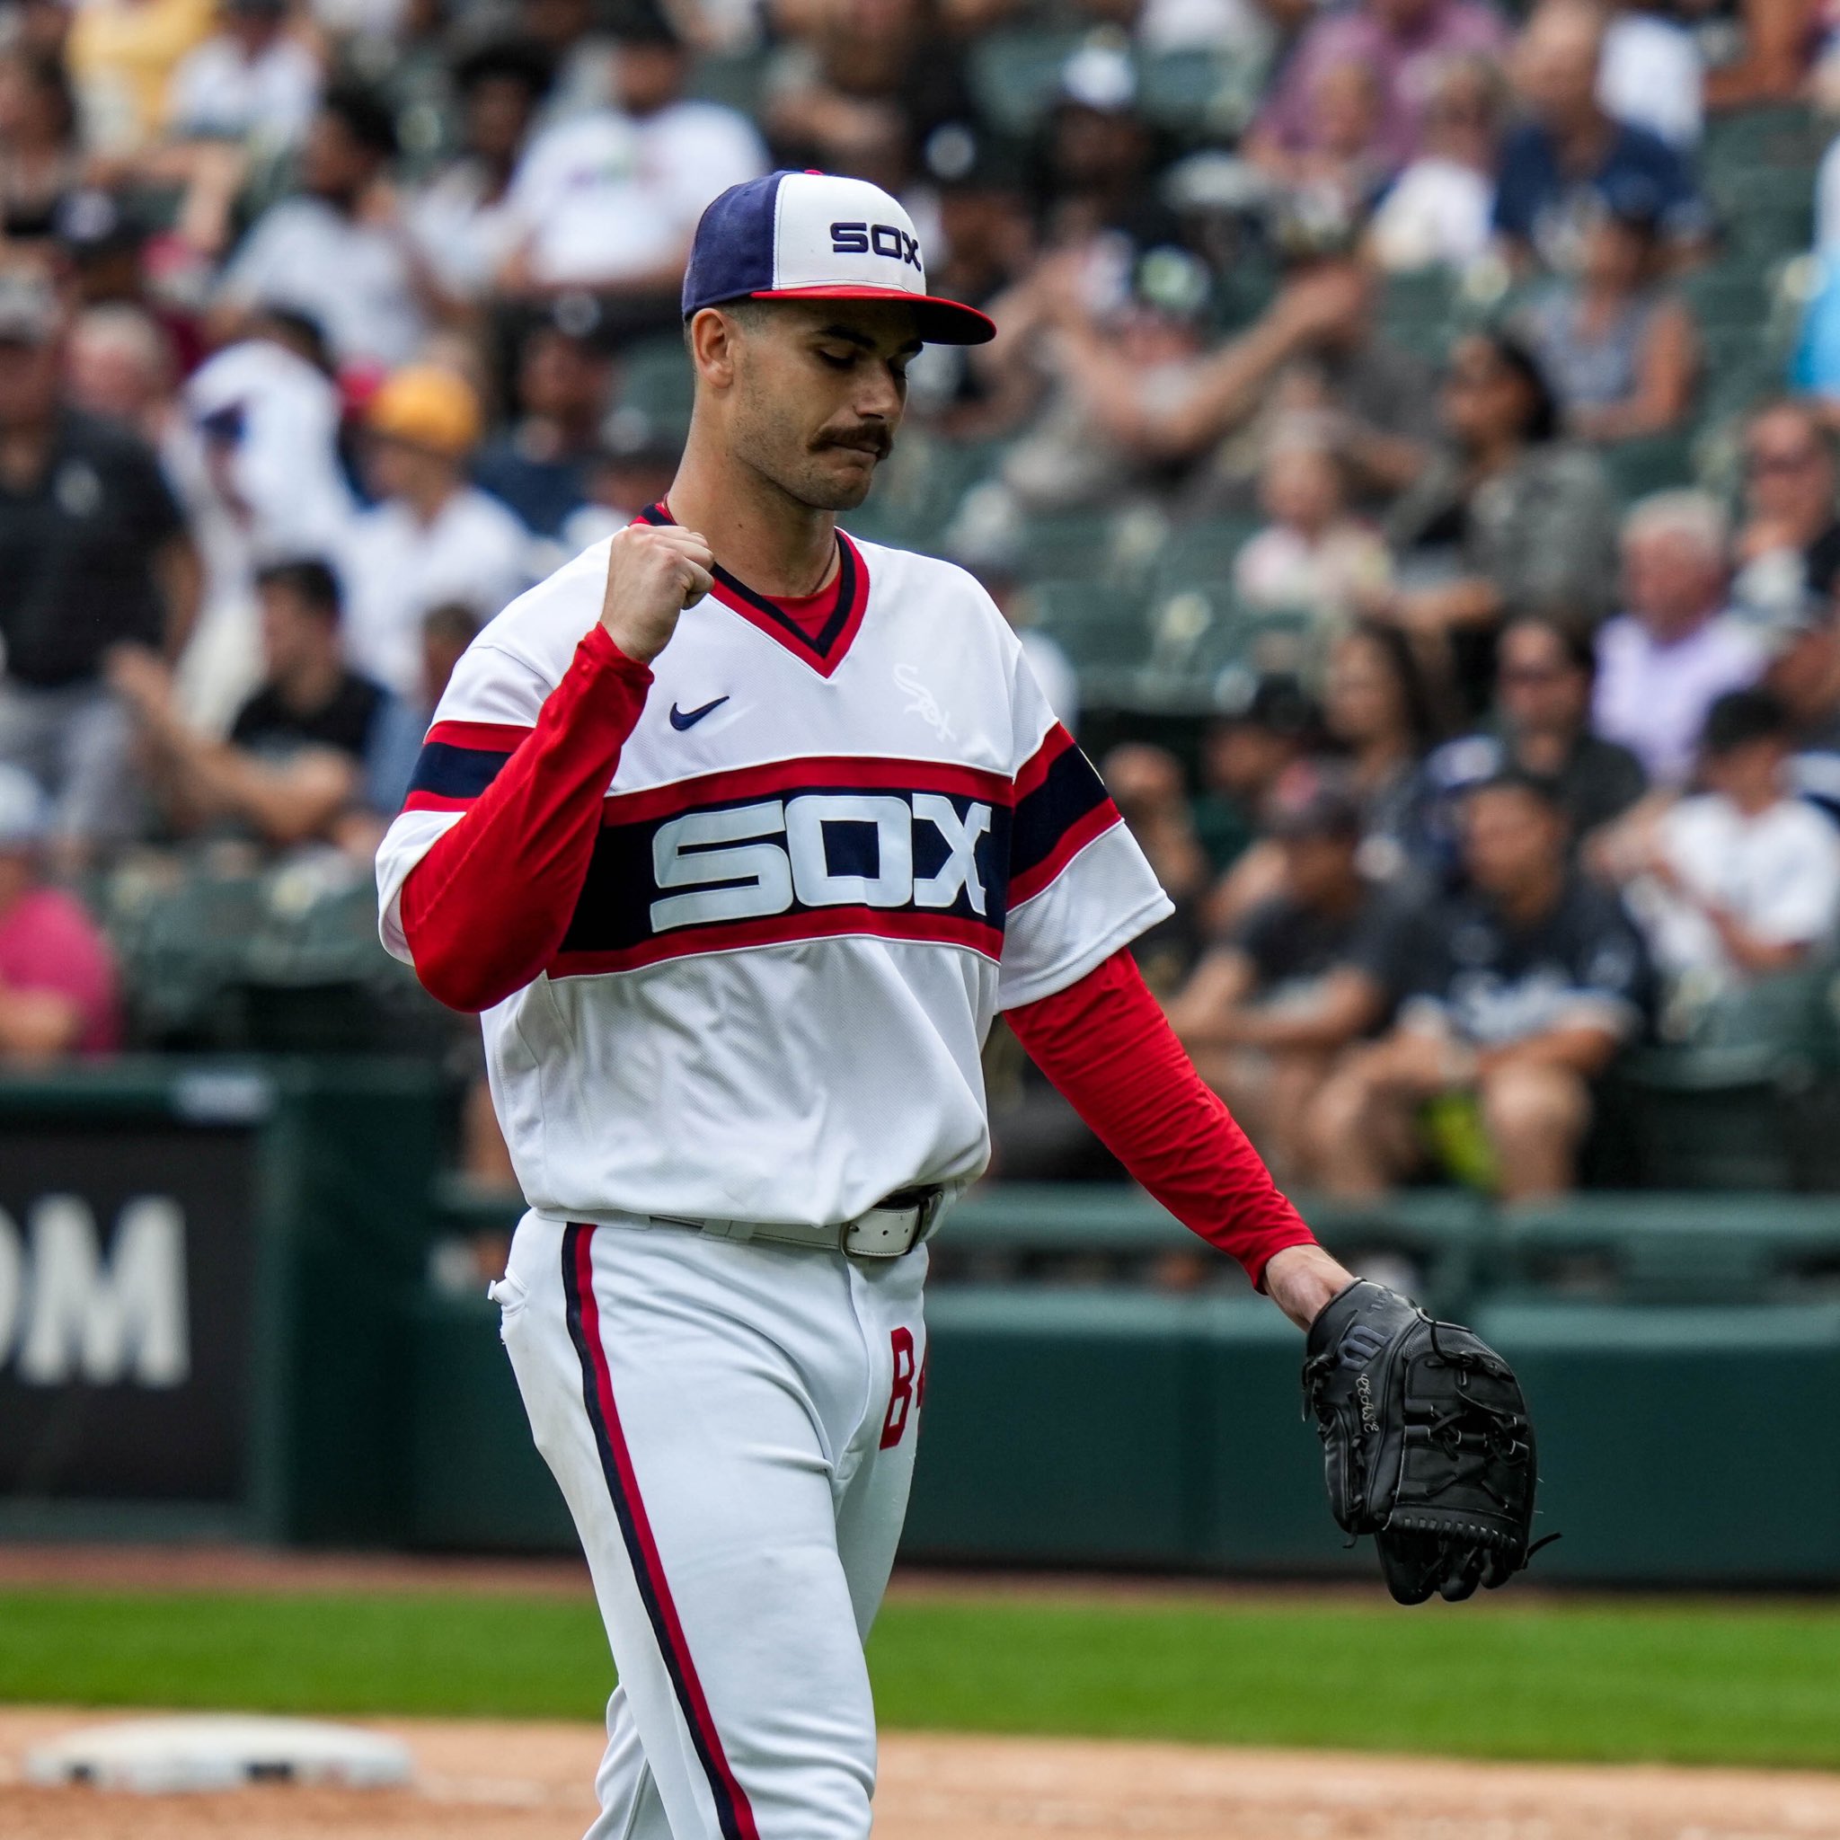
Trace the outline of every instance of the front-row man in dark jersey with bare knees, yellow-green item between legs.
<path fill-rule="evenodd" d="M 1593 1082 L 1652 1016 L 1641 933 L 1571 863 L 1549 780 L 1463 800 L 1466 889 L 1415 931 L 1397 1025 L 1323 1082 L 1310 1179 L 1371 1198 L 1428 1168 L 1503 1202 L 1564 1194 Z"/>

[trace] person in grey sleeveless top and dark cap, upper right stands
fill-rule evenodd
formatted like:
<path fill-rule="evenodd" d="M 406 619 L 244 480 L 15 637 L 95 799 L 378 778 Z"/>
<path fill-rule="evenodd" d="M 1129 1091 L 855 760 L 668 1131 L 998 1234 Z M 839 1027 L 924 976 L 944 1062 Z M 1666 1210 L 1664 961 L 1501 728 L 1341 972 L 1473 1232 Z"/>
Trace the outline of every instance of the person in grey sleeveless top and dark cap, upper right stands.
<path fill-rule="evenodd" d="M 1595 199 L 1575 274 L 1549 282 L 1520 324 L 1571 434 L 1665 434 L 1693 407 L 1698 333 L 1665 283 L 1652 186 L 1623 182 Z"/>

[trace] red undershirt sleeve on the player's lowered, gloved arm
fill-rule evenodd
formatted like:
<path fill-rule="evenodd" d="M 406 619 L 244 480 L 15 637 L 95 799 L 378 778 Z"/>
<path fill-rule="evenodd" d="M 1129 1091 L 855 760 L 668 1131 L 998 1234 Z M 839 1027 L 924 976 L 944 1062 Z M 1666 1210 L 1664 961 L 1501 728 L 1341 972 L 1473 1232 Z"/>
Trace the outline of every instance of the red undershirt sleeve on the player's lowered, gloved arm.
<path fill-rule="evenodd" d="M 1185 1227 L 1238 1259 L 1255 1284 L 1264 1286 L 1273 1253 L 1316 1244 L 1194 1071 L 1130 951 L 1006 1019 L 1100 1143 Z"/>

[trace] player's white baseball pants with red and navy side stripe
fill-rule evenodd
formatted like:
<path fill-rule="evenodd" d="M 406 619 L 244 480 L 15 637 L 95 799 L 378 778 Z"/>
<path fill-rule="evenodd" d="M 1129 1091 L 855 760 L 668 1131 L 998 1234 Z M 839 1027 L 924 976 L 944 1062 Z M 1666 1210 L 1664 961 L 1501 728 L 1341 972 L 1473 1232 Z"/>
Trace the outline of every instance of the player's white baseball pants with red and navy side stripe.
<path fill-rule="evenodd" d="M 868 1834 L 926 1262 L 519 1225 L 504 1345 L 620 1676 L 589 1840 Z"/>

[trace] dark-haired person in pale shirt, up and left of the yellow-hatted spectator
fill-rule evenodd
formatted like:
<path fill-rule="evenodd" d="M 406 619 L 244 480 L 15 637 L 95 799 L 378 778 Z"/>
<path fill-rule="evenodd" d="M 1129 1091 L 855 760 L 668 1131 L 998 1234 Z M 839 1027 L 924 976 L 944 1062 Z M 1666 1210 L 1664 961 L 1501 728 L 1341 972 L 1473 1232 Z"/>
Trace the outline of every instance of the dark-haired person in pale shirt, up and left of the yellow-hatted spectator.
<path fill-rule="evenodd" d="M 396 125 L 383 103 L 361 88 L 329 88 L 300 151 L 300 191 L 263 212 L 230 258 L 213 307 L 219 340 L 269 305 L 324 326 L 342 370 L 375 374 L 416 355 L 427 316 L 383 184 L 394 156 Z"/>

